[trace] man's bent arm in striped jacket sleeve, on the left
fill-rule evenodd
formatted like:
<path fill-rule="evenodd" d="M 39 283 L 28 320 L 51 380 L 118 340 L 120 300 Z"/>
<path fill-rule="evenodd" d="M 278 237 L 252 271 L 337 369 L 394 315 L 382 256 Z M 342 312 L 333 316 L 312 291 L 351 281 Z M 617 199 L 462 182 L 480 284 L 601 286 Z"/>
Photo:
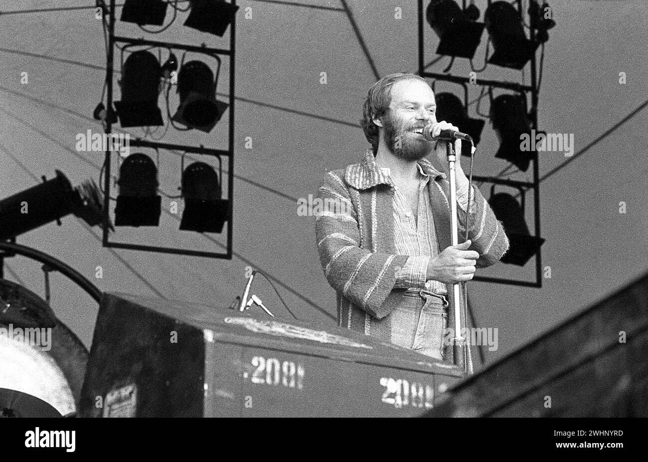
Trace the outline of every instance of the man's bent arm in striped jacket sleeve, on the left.
<path fill-rule="evenodd" d="M 315 224 L 319 260 L 327 281 L 353 305 L 375 318 L 384 318 L 389 312 L 381 306 L 408 256 L 360 248 L 358 220 L 362 217 L 358 217 L 341 175 L 329 172 L 318 198 L 329 204 L 316 216 Z"/>

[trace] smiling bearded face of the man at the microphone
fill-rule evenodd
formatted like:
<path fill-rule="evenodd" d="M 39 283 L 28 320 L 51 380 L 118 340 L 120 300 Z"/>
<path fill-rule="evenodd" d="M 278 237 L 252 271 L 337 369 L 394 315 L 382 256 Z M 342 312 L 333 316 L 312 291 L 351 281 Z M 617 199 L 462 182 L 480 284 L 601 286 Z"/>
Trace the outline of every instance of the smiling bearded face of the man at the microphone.
<path fill-rule="evenodd" d="M 400 80 L 391 87 L 391 104 L 382 117 L 383 140 L 389 151 L 408 161 L 417 161 L 434 152 L 434 143 L 421 133 L 437 122 L 434 93 L 421 80 Z"/>

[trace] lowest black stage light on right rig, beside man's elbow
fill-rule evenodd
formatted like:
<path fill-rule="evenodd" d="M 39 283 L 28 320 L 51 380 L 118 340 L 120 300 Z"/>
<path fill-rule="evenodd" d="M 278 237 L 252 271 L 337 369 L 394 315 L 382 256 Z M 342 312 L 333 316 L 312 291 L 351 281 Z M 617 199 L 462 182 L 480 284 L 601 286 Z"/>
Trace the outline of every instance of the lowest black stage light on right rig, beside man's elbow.
<path fill-rule="evenodd" d="M 524 195 L 522 197 L 524 200 Z M 489 204 L 497 219 L 502 222 L 506 236 L 509 238 L 509 250 L 500 261 L 524 266 L 538 252 L 544 239 L 529 234 L 529 227 L 524 220 L 524 209 L 511 194 L 505 192 L 494 194 Z"/>

